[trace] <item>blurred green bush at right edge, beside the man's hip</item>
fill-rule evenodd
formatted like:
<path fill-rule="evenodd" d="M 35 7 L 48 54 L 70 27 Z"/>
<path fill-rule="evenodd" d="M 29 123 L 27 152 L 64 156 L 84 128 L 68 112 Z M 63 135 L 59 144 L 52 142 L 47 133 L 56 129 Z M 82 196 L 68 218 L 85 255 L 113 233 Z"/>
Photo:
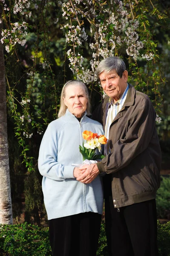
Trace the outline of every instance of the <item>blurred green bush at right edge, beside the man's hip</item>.
<path fill-rule="evenodd" d="M 161 176 L 161 186 L 156 195 L 156 207 L 158 218 L 170 217 L 170 177 Z"/>

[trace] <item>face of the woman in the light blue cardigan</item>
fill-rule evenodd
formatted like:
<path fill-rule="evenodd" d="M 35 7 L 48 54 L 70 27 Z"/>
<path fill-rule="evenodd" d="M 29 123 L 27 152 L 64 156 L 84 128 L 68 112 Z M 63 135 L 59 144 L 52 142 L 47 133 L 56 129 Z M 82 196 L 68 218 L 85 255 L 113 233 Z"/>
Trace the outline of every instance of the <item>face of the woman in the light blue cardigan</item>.
<path fill-rule="evenodd" d="M 70 113 L 76 117 L 81 117 L 86 111 L 87 97 L 84 87 L 81 85 L 70 85 L 66 88 L 64 104 Z"/>

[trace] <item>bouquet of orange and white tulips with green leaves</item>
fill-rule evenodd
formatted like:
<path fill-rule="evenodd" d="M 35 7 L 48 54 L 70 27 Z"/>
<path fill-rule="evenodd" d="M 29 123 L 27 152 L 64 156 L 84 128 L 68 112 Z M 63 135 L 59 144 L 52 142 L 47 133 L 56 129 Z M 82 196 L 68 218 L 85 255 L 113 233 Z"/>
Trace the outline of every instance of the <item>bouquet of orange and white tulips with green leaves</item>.
<path fill-rule="evenodd" d="M 83 160 L 96 160 L 104 158 L 103 154 L 96 154 L 96 149 L 101 152 L 101 144 L 107 143 L 107 138 L 104 135 L 98 135 L 91 131 L 84 131 L 83 138 L 86 143 L 83 142 L 83 147 L 79 145 Z"/>

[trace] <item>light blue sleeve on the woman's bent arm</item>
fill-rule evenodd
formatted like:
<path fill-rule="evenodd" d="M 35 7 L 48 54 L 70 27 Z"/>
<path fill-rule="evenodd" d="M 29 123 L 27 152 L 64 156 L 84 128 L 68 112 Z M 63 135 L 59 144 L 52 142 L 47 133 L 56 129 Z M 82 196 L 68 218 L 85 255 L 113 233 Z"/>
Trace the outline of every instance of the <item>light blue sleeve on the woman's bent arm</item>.
<path fill-rule="evenodd" d="M 49 125 L 43 136 L 38 157 L 38 169 L 41 175 L 52 180 L 75 178 L 74 166 L 64 166 L 57 161 L 57 134 Z"/>

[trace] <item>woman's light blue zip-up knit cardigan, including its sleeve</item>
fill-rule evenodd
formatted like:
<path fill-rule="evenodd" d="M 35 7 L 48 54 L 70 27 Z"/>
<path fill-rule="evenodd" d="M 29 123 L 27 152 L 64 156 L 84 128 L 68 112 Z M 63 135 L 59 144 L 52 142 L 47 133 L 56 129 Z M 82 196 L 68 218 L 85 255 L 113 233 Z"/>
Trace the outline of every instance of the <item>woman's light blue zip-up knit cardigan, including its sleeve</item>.
<path fill-rule="evenodd" d="M 60 218 L 81 212 L 102 214 L 103 190 L 98 177 L 84 184 L 73 176 L 72 163 L 82 163 L 79 145 L 82 132 L 88 130 L 104 134 L 102 125 L 89 119 L 86 113 L 81 122 L 70 113 L 52 121 L 40 145 L 38 168 L 43 175 L 42 189 L 48 219 Z"/>

